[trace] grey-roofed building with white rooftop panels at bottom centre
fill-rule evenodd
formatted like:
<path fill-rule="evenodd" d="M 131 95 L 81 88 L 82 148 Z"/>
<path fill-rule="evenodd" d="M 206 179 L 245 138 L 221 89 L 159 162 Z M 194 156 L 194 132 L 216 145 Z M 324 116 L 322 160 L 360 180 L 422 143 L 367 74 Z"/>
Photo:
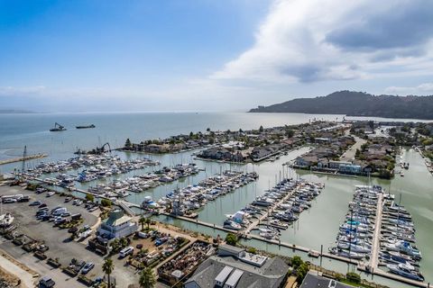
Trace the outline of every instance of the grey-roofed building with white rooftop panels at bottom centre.
<path fill-rule="evenodd" d="M 279 257 L 248 253 L 244 248 L 221 245 L 185 283 L 186 288 L 279 288 L 289 266 Z"/>

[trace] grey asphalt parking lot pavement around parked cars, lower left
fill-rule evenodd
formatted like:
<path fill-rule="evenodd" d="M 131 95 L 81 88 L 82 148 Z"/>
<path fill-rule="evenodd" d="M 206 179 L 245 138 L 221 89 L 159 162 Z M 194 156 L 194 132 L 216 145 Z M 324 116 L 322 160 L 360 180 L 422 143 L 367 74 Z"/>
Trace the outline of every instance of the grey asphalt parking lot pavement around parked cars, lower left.
<path fill-rule="evenodd" d="M 60 229 L 54 227 L 53 222 L 36 220 L 35 213 L 38 211 L 38 206 L 30 206 L 33 201 L 41 201 L 47 204 L 50 211 L 52 208 L 61 206 L 68 209 L 71 214 L 80 213 L 84 222 L 78 228 L 84 225 L 89 225 L 93 229 L 97 228 L 99 223 L 98 213 L 99 210 L 89 212 L 84 204 L 77 206 L 72 202 L 65 202 L 65 197 L 58 194 L 47 197 L 47 193 L 36 194 L 32 191 L 23 190 L 19 186 L 0 186 L 0 196 L 10 194 L 23 194 L 29 195 L 29 202 L 14 202 L 2 204 L 1 213 L 12 213 L 14 216 L 14 224 L 18 225 L 16 231 L 23 233 L 33 239 L 43 240 L 49 250 L 45 252 L 47 257 L 59 258 L 61 266 L 68 266 L 72 258 L 83 260 L 86 262 L 93 262 L 95 268 L 88 273 L 88 277 L 94 279 L 98 276 L 103 276 L 102 264 L 104 258 L 89 251 L 87 240 L 78 242 L 69 238 L 70 234 L 68 229 Z M 8 254 L 14 257 L 17 261 L 29 266 L 41 276 L 50 275 L 56 282 L 56 287 L 84 287 L 79 284 L 76 279 L 71 278 L 61 272 L 61 269 L 54 269 L 49 266 L 45 260 L 40 260 L 33 257 L 32 253 L 27 253 L 22 247 L 15 246 L 11 240 L 1 238 L 0 248 L 5 250 Z M 134 270 L 128 266 L 124 266 L 124 261 L 118 260 L 114 257 L 115 270 L 113 276 L 116 278 L 117 287 L 127 287 L 128 284 L 137 283 L 138 275 L 134 274 Z M 73 284 L 71 284 L 73 282 Z"/>

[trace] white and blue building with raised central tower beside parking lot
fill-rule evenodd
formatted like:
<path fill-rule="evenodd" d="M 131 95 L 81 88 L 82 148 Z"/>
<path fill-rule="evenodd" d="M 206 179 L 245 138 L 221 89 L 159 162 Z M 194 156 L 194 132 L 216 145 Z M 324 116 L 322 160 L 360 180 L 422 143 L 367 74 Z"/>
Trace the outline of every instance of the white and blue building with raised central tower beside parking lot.
<path fill-rule="evenodd" d="M 131 217 L 124 215 L 124 211 L 115 209 L 99 225 L 97 234 L 106 239 L 123 238 L 134 234 L 137 229 L 137 223 L 133 222 Z"/>

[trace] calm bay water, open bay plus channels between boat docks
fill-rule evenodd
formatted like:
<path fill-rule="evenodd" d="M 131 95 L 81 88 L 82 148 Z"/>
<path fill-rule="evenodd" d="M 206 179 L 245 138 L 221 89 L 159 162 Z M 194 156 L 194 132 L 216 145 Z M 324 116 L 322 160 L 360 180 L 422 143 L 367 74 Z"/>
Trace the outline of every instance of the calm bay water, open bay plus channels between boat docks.
<path fill-rule="evenodd" d="M 23 154 L 23 146 L 26 145 L 28 153 L 47 153 L 49 157 L 44 159 L 57 160 L 73 157 L 73 152 L 77 148 L 96 148 L 109 142 L 112 148 L 120 147 L 126 138 L 133 141 L 143 139 L 164 138 L 179 133 L 189 133 L 189 131 L 204 131 L 207 128 L 212 130 L 238 130 L 257 129 L 272 127 L 284 124 L 299 124 L 313 119 L 341 120 L 342 115 L 309 115 L 309 114 L 265 114 L 265 113 L 83 113 L 83 114 L 14 114 L 0 115 L 0 159 L 18 157 Z M 49 129 L 54 122 L 60 122 L 68 130 L 62 132 L 50 132 Z M 96 129 L 76 130 L 76 125 L 95 124 Z M 133 193 L 128 197 L 131 202 L 141 202 L 143 197 L 151 195 L 153 199 L 158 199 L 169 193 L 176 187 L 184 187 L 188 184 L 197 184 L 201 179 L 209 175 L 219 173 L 225 169 L 248 170 L 259 173 L 260 178 L 256 183 L 244 186 L 233 193 L 218 198 L 214 202 L 209 202 L 205 208 L 198 211 L 199 219 L 210 223 L 222 224 L 226 214 L 234 213 L 252 202 L 256 195 L 262 194 L 265 189 L 275 184 L 276 177 L 282 171 L 282 163 L 293 159 L 308 148 L 300 148 L 281 157 L 279 160 L 260 165 L 249 164 L 246 166 L 235 166 L 219 164 L 214 162 L 196 161 L 198 166 L 206 169 L 198 175 L 190 176 L 173 184 L 165 184 L 160 187 L 143 193 Z M 141 157 L 130 153 L 120 153 L 121 157 Z M 192 161 L 191 152 L 175 155 L 152 156 L 161 161 L 163 166 L 175 165 Z M 421 271 L 426 276 L 427 281 L 433 282 L 433 242 L 431 232 L 433 227 L 433 177 L 428 174 L 422 158 L 414 150 L 404 153 L 404 162 L 410 162 L 410 169 L 405 173 L 405 177 L 397 176 L 392 181 L 372 179 L 373 184 L 381 184 L 387 190 L 397 195 L 401 193 L 402 204 L 411 212 L 415 222 L 418 239 L 417 246 L 423 253 Z M 40 160 L 28 161 L 28 166 L 34 166 Z M 0 166 L 0 172 L 10 172 L 14 167 L 20 168 L 21 163 Z M 130 175 L 140 175 L 144 172 L 152 171 L 152 167 L 140 171 L 134 171 Z M 72 172 L 71 172 L 72 173 Z M 286 171 L 291 176 L 297 176 L 295 171 Z M 299 220 L 290 229 L 282 232 L 281 241 L 294 243 L 303 247 L 311 247 L 319 250 L 320 245 L 324 249 L 331 246 L 336 238 L 338 225 L 342 222 L 347 211 L 347 203 L 351 201 L 355 184 L 366 184 L 367 179 L 363 177 L 348 178 L 328 175 L 311 175 L 309 172 L 301 171 L 299 175 L 311 181 L 326 184 L 326 187 L 309 211 L 304 211 Z M 101 180 L 104 183 L 107 180 Z M 95 185 L 94 183 L 93 185 Z M 87 188 L 88 184 L 83 184 L 82 188 Z M 173 222 L 173 220 L 161 217 L 161 220 Z M 224 233 L 199 227 L 195 224 L 175 220 L 175 224 L 188 229 L 195 229 L 207 234 L 217 235 Z M 287 248 L 279 248 L 263 242 L 252 240 L 248 245 L 260 247 L 264 250 L 280 253 L 283 255 L 293 255 L 293 251 Z M 303 255 L 305 257 L 305 255 Z M 309 258 L 311 261 L 311 259 Z M 314 260 L 317 261 L 317 260 Z M 324 266 L 331 267 L 345 273 L 347 266 L 336 261 L 324 260 Z M 403 284 L 374 277 L 374 280 L 392 287 L 406 287 Z"/>

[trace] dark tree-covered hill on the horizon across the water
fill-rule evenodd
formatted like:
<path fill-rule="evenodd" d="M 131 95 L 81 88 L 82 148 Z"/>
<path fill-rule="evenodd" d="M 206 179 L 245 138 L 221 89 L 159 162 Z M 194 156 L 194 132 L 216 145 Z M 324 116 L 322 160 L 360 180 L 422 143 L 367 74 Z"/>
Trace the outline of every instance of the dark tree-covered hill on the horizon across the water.
<path fill-rule="evenodd" d="M 338 91 L 316 98 L 299 98 L 271 106 L 259 106 L 250 112 L 299 112 L 311 114 L 345 114 L 384 118 L 433 120 L 433 95 L 373 95 L 355 91 Z"/>

